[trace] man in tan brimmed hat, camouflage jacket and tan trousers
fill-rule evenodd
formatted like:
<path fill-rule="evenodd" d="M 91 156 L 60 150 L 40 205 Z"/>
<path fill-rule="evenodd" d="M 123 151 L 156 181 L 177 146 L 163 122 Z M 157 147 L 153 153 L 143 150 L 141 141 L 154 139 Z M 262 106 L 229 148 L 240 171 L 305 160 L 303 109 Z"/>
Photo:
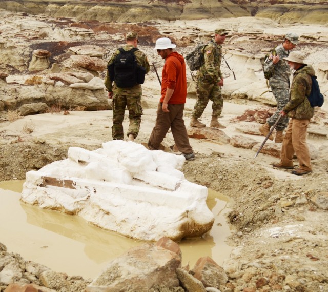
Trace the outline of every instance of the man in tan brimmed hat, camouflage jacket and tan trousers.
<path fill-rule="evenodd" d="M 315 71 L 311 65 L 304 64 L 301 52 L 291 52 L 289 57 L 283 58 L 291 69 L 295 70 L 291 86 L 290 100 L 280 111 L 282 116 L 288 115 L 290 121 L 282 141 L 280 162 L 274 164 L 277 168 L 294 168 L 293 156 L 297 156 L 299 168 L 292 171 L 293 174 L 302 175 L 312 172 L 309 147 L 306 145 L 306 130 L 310 119 L 314 115 L 307 96 L 312 88 L 311 76 Z"/>

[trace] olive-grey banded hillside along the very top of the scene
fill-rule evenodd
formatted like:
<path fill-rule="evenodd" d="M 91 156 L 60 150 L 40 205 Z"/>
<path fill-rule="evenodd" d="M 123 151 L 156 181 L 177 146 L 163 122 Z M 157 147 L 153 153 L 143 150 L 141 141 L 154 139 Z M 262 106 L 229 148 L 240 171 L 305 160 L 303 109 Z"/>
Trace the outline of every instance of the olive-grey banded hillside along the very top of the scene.
<path fill-rule="evenodd" d="M 315 4 L 315 5 L 311 5 Z M 317 0 L 279 1 L 277 3 L 264 1 L 215 1 L 198 2 L 137 2 L 94 3 L 92 1 L 70 2 L 52 1 L 51 3 L 37 0 L 25 1 L 24 4 L 5 0 L 0 8 L 14 12 L 44 14 L 50 17 L 68 17 L 77 20 L 97 20 L 102 22 L 147 22 L 154 20 L 201 20 L 208 18 L 229 18 L 240 16 L 257 16 L 271 18 L 279 23 L 317 23 L 326 24 L 328 9 L 325 4 Z M 72 29 L 70 34 L 80 38 L 91 35 L 84 29 Z"/>

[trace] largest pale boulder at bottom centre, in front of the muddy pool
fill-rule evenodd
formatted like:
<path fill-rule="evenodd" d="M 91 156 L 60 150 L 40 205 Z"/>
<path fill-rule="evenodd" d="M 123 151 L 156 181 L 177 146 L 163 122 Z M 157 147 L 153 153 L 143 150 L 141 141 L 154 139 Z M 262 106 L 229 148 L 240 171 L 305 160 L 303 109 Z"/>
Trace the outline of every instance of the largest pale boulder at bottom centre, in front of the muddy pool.
<path fill-rule="evenodd" d="M 131 248 L 111 261 L 85 291 L 149 292 L 156 286 L 178 287 L 176 269 L 181 266 L 178 254 L 156 244 Z"/>

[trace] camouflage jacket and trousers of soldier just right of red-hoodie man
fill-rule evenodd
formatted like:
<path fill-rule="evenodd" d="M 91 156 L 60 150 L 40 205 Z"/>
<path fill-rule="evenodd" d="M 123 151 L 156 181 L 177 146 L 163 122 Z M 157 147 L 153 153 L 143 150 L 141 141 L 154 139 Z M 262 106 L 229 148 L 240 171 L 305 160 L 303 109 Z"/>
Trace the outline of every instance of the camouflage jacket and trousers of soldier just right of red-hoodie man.
<path fill-rule="evenodd" d="M 220 70 L 222 59 L 222 46 L 210 42 L 203 49 L 204 64 L 196 75 L 197 101 L 193 110 L 193 118 L 198 119 L 204 112 L 209 100 L 212 104 L 212 116 L 220 116 L 223 107 L 221 87 L 218 82 L 222 77 Z"/>

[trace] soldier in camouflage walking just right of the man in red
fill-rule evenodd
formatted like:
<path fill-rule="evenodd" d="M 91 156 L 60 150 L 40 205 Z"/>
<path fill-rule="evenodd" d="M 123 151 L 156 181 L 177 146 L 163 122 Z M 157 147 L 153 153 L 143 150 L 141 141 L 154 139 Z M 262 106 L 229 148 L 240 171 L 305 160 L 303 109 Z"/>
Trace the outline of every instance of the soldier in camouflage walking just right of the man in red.
<path fill-rule="evenodd" d="M 212 104 L 212 121 L 210 127 L 224 129 L 218 122 L 218 117 L 221 115 L 223 107 L 223 97 L 221 94 L 221 87 L 223 86 L 223 76 L 220 70 L 222 60 L 221 45 L 226 40 L 228 34 L 226 29 L 216 29 L 215 36 L 212 42 L 203 48 L 203 65 L 197 71 L 196 76 L 196 94 L 197 101 L 193 110 L 193 116 L 190 121 L 192 127 L 205 127 L 206 125 L 199 122 L 204 109 L 209 100 Z"/>

